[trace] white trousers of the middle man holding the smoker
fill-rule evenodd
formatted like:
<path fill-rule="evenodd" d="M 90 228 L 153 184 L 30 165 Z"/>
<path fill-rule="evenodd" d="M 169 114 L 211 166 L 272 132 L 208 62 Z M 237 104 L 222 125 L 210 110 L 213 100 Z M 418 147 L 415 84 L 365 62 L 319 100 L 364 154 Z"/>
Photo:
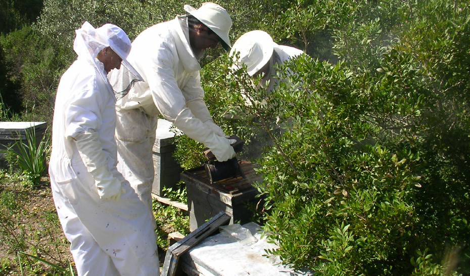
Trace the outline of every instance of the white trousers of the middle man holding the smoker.
<path fill-rule="evenodd" d="M 155 175 L 152 149 L 158 117 L 149 116 L 139 109 L 119 110 L 116 116 L 117 169 L 147 206 L 156 229 L 152 209 Z"/>

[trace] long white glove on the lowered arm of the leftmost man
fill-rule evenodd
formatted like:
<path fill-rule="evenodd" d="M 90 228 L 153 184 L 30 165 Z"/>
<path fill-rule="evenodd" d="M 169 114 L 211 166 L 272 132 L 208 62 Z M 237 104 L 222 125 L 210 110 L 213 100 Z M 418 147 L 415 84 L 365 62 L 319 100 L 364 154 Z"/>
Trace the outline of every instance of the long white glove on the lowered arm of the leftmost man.
<path fill-rule="evenodd" d="M 115 178 L 108 170 L 108 161 L 98 133 L 82 132 L 75 137 L 75 144 L 86 170 L 95 179 L 100 198 L 112 200 L 121 198 L 121 194 L 124 193 L 121 180 Z"/>

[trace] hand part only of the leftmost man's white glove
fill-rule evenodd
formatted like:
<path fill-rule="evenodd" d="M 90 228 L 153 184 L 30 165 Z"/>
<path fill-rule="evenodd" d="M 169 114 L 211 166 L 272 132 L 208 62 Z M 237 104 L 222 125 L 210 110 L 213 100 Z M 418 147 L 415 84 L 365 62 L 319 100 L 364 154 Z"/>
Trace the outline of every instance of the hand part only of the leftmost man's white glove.
<path fill-rule="evenodd" d="M 119 200 L 121 194 L 125 193 L 122 189 L 121 180 L 113 177 L 108 170 L 108 165 L 102 166 L 90 172 L 95 178 L 95 185 L 98 189 L 98 195 L 101 199 Z"/>

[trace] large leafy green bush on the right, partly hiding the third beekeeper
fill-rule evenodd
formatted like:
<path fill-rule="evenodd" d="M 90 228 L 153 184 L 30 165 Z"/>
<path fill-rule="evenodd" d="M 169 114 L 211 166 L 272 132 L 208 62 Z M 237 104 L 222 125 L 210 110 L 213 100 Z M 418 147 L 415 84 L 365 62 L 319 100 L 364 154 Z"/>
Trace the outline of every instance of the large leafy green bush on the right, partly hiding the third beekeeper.
<path fill-rule="evenodd" d="M 293 60 L 270 95 L 225 57 L 204 68 L 218 123 L 271 138 L 257 184 L 269 253 L 327 275 L 468 273 L 468 4 L 358 8 L 328 26 L 339 62 Z"/>

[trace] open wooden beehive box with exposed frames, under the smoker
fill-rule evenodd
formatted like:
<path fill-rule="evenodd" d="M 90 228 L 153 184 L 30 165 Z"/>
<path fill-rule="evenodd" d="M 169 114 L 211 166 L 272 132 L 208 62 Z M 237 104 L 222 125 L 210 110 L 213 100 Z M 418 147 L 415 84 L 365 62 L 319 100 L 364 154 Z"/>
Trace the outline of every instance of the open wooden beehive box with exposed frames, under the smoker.
<path fill-rule="evenodd" d="M 240 167 L 245 178 L 239 176 L 211 183 L 204 166 L 181 173 L 181 180 L 186 184 L 187 208 L 190 214 L 190 230 L 211 219 L 220 211 L 231 217 L 233 222 L 250 222 L 253 213 L 248 205 L 255 205 L 260 199 L 252 185 L 261 182 L 262 177 L 255 174 L 255 164 L 241 161 Z"/>

